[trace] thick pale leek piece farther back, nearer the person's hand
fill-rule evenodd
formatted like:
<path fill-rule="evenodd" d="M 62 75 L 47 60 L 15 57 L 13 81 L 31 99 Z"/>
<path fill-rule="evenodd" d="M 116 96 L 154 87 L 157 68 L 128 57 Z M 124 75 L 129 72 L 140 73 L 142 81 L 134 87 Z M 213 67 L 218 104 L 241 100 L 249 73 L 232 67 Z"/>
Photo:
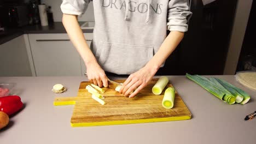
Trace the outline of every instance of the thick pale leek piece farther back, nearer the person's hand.
<path fill-rule="evenodd" d="M 161 76 L 160 79 L 155 83 L 155 85 L 152 88 L 152 92 L 155 95 L 159 95 L 164 90 L 165 86 L 168 83 L 168 78 L 166 76 Z"/>

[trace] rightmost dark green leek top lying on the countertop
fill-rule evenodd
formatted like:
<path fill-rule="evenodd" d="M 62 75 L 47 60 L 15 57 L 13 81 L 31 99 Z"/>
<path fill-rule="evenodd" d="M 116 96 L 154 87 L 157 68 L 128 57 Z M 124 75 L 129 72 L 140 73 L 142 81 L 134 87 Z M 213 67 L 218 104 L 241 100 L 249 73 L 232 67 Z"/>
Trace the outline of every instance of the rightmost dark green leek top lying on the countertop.
<path fill-rule="evenodd" d="M 221 84 L 223 84 L 223 86 L 224 86 L 225 88 L 227 88 L 227 89 L 229 88 L 229 89 L 231 89 L 232 92 L 235 91 L 234 93 L 237 93 L 237 94 L 239 94 L 239 95 L 242 95 L 243 99 L 242 99 L 242 101 L 241 101 L 240 104 L 244 105 L 244 104 L 248 103 L 248 101 L 251 99 L 250 95 L 249 95 L 248 93 L 246 93 L 245 91 L 243 91 L 242 89 L 237 88 L 237 87 L 231 85 L 229 82 L 226 82 L 226 81 L 224 81 L 224 80 L 222 80 L 222 79 L 217 79 L 217 80 L 218 80 Z M 228 90 L 229 90 L 229 89 L 228 89 Z"/>

